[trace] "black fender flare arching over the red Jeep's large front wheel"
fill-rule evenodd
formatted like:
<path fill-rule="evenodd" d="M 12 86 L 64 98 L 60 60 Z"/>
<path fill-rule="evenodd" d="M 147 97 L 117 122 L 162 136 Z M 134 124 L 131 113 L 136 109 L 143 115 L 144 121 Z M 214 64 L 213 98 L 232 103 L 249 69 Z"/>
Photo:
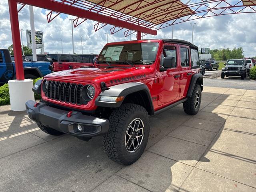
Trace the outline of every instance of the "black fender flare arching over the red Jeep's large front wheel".
<path fill-rule="evenodd" d="M 127 95 L 134 93 L 134 92 L 143 91 L 146 95 L 146 98 L 144 98 L 144 99 L 148 100 L 149 105 L 150 105 L 149 114 L 150 115 L 154 114 L 154 107 L 153 107 L 151 94 L 148 89 L 148 86 L 146 86 L 144 83 L 128 82 L 128 83 L 114 85 L 109 88 L 110 89 L 108 89 L 108 90 L 102 91 L 100 93 L 100 95 L 96 98 L 96 100 L 95 100 L 96 106 L 118 108 L 121 106 L 122 102 L 124 101 L 124 99 Z M 112 97 L 124 96 L 124 99 L 120 102 L 105 102 L 105 101 L 100 101 L 101 96 L 112 96 Z"/>

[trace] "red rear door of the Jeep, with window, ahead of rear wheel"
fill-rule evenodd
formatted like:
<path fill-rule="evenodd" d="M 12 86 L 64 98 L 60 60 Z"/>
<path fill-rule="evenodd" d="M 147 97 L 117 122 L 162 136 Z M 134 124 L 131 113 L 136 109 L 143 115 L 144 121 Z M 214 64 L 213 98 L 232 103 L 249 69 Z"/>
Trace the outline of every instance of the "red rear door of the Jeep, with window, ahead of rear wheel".
<path fill-rule="evenodd" d="M 192 75 L 189 46 L 180 45 L 180 66 L 179 97 L 184 97 L 186 86 L 189 83 L 188 77 Z"/>

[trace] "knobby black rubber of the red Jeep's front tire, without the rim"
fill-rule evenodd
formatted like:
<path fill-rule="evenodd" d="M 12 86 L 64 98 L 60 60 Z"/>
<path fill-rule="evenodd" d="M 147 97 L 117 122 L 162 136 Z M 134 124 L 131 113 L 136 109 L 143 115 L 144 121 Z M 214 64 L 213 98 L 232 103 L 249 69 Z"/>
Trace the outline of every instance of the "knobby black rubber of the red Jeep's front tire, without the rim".
<path fill-rule="evenodd" d="M 130 123 L 140 118 L 144 124 L 144 136 L 137 150 L 128 152 L 125 144 L 126 131 Z M 140 158 L 146 148 L 150 131 L 148 112 L 136 104 L 123 104 L 109 117 L 109 130 L 104 135 L 103 146 L 108 157 L 119 164 L 130 165 Z"/>

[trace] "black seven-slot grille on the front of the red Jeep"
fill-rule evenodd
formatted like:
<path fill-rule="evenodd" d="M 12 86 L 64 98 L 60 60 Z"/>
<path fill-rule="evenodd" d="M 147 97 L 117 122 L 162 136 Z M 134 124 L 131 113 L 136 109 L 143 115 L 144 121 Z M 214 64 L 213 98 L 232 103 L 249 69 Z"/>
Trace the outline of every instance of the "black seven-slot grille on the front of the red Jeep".
<path fill-rule="evenodd" d="M 49 80 L 46 96 L 52 100 L 81 105 L 82 98 L 80 92 L 82 87 L 82 84 Z"/>

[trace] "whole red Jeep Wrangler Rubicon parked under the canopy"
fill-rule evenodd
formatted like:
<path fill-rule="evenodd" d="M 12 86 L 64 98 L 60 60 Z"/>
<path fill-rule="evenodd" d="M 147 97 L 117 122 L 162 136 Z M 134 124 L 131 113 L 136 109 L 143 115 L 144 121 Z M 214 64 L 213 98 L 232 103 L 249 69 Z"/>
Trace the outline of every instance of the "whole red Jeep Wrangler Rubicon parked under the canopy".
<path fill-rule="evenodd" d="M 108 157 L 134 163 L 146 147 L 149 117 L 183 103 L 200 108 L 203 78 L 198 47 L 184 40 L 108 43 L 93 66 L 54 72 L 36 82 L 42 95 L 26 103 L 30 119 L 52 135 L 88 141 L 104 135 Z"/>

